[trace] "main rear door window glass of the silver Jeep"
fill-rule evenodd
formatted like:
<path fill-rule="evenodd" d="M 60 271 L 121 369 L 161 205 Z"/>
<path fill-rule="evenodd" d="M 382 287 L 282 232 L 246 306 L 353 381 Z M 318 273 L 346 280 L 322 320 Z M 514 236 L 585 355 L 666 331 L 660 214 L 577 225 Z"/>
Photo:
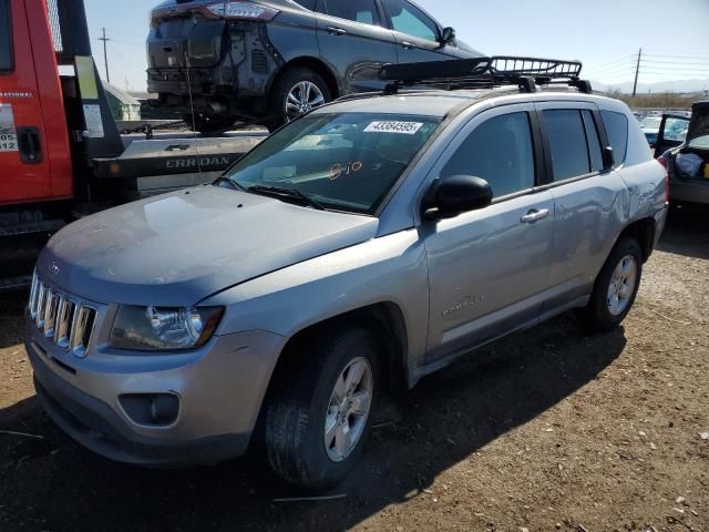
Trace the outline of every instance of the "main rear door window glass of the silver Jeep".
<path fill-rule="evenodd" d="M 590 173 L 586 129 L 576 109 L 546 110 L 544 127 L 552 152 L 554 181 Z"/>

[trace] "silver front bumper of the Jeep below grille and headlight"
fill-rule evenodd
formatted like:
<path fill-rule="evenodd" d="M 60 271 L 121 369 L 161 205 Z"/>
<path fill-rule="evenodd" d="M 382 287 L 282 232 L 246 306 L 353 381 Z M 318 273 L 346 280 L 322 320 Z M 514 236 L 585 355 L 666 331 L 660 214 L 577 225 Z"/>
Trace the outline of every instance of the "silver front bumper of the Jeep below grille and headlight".
<path fill-rule="evenodd" d="M 214 338 L 199 352 L 79 359 L 28 319 L 25 347 L 38 397 L 64 432 L 112 460 L 169 467 L 246 451 L 282 344 L 282 337 L 253 331 Z M 136 422 L 119 400 L 133 393 L 176 395 L 176 420 L 167 427 Z"/>

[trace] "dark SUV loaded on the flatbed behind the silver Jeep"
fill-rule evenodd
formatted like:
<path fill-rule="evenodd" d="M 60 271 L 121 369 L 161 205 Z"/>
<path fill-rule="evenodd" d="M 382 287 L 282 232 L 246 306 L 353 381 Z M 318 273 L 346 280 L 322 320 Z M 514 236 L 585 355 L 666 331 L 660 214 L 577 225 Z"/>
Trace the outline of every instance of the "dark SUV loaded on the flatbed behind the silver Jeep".
<path fill-rule="evenodd" d="M 482 54 L 409 0 L 167 0 L 151 13 L 147 85 L 195 130 L 269 129 L 353 92 L 386 63 Z"/>

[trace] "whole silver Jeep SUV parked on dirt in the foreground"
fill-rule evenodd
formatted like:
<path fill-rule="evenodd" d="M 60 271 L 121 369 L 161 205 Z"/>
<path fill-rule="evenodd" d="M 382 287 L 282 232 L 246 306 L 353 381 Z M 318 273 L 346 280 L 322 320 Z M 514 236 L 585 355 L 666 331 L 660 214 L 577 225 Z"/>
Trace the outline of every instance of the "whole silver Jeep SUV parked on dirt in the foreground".
<path fill-rule="evenodd" d="M 148 466 L 259 432 L 278 474 L 323 489 L 383 389 L 569 309 L 616 327 L 667 174 L 624 103 L 520 84 L 350 96 L 214 184 L 62 229 L 27 311 L 49 415 Z"/>

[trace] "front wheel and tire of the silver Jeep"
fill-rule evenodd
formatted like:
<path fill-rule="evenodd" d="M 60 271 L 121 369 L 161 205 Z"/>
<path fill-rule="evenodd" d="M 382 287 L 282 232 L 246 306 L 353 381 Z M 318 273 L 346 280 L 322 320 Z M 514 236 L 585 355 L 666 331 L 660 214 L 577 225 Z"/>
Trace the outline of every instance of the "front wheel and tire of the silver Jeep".
<path fill-rule="evenodd" d="M 341 482 L 362 453 L 378 399 L 380 370 L 376 337 L 367 329 L 341 328 L 312 340 L 304 344 L 298 370 L 286 376 L 285 386 L 267 406 L 266 454 L 271 469 L 285 481 L 310 491 L 322 491 Z M 367 379 L 362 377 L 350 403 L 358 396 L 363 398 L 362 392 L 367 390 L 370 403 L 363 419 L 353 413 L 341 416 L 348 417 L 346 431 L 345 423 L 338 421 L 340 417 L 335 416 L 338 408 L 332 407 L 331 401 L 336 385 L 347 383 L 354 364 L 357 368 L 364 368 L 363 374 L 368 368 L 371 379 L 364 382 Z M 362 401 L 362 409 L 363 405 Z M 327 440 L 331 442 L 328 449 L 326 423 L 332 427 L 333 420 L 337 422 L 330 434 L 336 436 Z M 345 439 L 337 434 L 346 433 L 356 441 L 347 453 L 340 453 L 339 449 L 346 446 L 338 448 L 338 442 Z"/>

